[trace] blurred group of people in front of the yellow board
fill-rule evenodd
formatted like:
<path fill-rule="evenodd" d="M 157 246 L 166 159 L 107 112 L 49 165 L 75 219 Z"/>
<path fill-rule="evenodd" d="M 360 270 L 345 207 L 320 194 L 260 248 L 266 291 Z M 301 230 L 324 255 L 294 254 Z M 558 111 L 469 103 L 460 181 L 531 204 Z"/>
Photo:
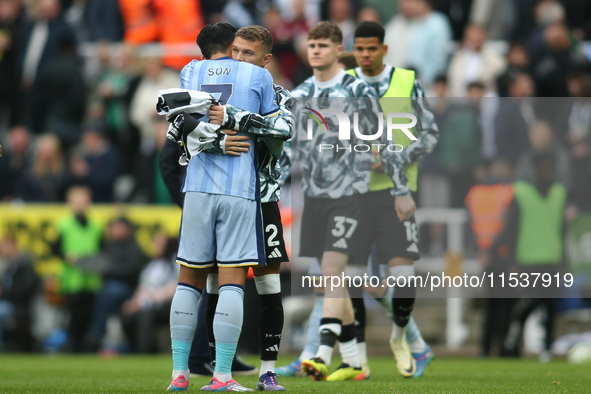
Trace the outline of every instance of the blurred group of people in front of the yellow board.
<path fill-rule="evenodd" d="M 177 285 L 177 240 L 156 230 L 148 256 L 125 216 L 104 227 L 89 216 L 87 186 L 71 186 L 66 198 L 70 213 L 54 224 L 57 238 L 50 245 L 62 264 L 42 286 L 15 235 L 0 239 L 0 351 L 97 352 L 112 315 L 120 317 L 128 350 L 156 351 L 157 329 L 168 327 Z M 40 299 L 62 317 L 45 328 L 44 338 L 34 333 Z"/>

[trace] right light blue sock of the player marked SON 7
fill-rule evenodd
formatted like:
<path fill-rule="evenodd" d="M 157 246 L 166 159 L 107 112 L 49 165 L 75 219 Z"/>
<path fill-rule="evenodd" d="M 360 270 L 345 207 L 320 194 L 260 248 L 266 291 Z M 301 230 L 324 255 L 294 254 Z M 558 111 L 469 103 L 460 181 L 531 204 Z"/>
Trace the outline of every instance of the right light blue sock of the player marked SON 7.
<path fill-rule="evenodd" d="M 236 354 L 238 338 L 244 318 L 244 289 L 240 285 L 220 286 L 220 298 L 213 319 L 215 335 L 214 376 L 232 373 L 232 360 Z"/>

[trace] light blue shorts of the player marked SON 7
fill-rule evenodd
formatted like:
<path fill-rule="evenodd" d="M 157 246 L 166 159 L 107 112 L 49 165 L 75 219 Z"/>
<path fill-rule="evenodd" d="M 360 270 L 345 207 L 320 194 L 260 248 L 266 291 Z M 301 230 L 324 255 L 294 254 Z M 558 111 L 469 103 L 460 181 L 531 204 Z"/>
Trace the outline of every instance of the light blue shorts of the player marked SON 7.
<path fill-rule="evenodd" d="M 265 265 L 260 203 L 185 193 L 177 263 L 191 268 Z"/>

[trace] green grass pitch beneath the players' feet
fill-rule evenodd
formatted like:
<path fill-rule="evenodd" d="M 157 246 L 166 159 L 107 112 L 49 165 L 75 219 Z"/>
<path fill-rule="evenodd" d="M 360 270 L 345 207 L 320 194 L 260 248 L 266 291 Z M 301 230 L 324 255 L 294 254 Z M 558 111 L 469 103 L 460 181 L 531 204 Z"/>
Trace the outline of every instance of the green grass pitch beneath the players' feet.
<path fill-rule="evenodd" d="M 255 357 L 247 361 L 257 363 Z M 278 365 L 291 361 L 279 360 Z M 340 360 L 334 360 L 335 363 Z M 165 393 L 170 383 L 167 356 L 0 356 L 0 393 Z M 333 366 L 334 367 L 334 366 Z M 591 364 L 564 360 L 435 358 L 424 377 L 403 379 L 392 358 L 370 358 L 372 377 L 362 382 L 314 382 L 280 378 L 292 393 L 591 393 Z M 255 388 L 256 377 L 238 377 Z M 191 379 L 199 392 L 207 378 Z"/>

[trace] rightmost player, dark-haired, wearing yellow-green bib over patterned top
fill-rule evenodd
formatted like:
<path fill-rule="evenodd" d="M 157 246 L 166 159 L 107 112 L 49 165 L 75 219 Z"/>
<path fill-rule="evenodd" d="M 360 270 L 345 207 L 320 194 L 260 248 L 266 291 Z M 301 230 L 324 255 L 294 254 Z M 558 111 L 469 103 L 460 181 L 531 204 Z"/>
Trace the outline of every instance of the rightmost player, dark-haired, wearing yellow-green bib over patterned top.
<path fill-rule="evenodd" d="M 404 147 L 398 154 L 396 165 L 399 166 L 401 177 L 407 179 L 406 194 L 398 190 L 394 192 L 397 185 L 384 174 L 381 162 L 376 160 L 372 165 L 370 192 L 362 197 L 366 212 L 363 215 L 364 225 L 361 225 L 364 232 L 372 235 L 368 240 L 375 244 L 377 253 L 374 255 L 377 256 L 378 263 L 387 264 L 391 276 L 408 278 L 414 275 L 413 262 L 420 256 L 417 224 L 414 215 L 404 218 L 392 212 L 392 199 L 395 199 L 397 212 L 399 205 L 414 204 L 411 192 L 417 191 L 418 161 L 433 151 L 439 139 L 439 131 L 415 72 L 383 63 L 388 51 L 388 46 L 384 45 L 384 35 L 384 28 L 375 22 L 363 22 L 357 27 L 353 55 L 358 67 L 347 73 L 362 79 L 377 91 L 384 115 L 388 112 L 412 113 L 417 117 L 417 125 L 411 129 L 415 140 L 399 129 L 393 130 L 392 136 L 396 144 Z M 373 274 L 377 274 L 379 269 L 373 271 Z M 393 290 L 389 288 L 384 294 L 376 296 L 392 314 L 394 325 L 390 345 L 396 365 L 402 376 L 421 376 L 432 353 L 421 338 L 416 324 L 410 319 L 415 289 L 401 287 L 395 293 Z M 363 298 L 356 298 L 353 302 L 358 313 L 364 310 Z M 360 315 L 363 316 L 364 313 Z M 356 320 L 364 323 L 365 319 Z M 363 343 L 360 341 L 364 336 L 362 327 L 358 327 L 358 331 L 361 334 L 358 343 Z M 367 359 L 363 356 L 364 353 L 365 349 L 361 348 L 362 360 Z"/>

